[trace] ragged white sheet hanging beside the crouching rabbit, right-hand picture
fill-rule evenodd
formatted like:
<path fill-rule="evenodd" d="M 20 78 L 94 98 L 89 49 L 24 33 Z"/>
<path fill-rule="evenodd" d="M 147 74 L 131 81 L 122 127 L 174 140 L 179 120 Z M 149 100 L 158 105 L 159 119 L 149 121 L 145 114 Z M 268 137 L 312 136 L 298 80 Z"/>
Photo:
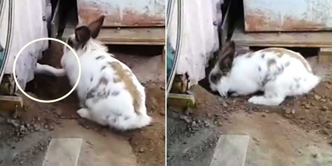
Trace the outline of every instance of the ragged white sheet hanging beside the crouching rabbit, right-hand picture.
<path fill-rule="evenodd" d="M 205 78 L 205 68 L 212 53 L 219 48 L 217 28 L 221 24 L 223 0 L 184 0 L 183 28 L 177 74 L 188 73 L 189 87 Z M 171 15 L 168 39 L 175 49 L 177 35 L 177 3 Z"/>

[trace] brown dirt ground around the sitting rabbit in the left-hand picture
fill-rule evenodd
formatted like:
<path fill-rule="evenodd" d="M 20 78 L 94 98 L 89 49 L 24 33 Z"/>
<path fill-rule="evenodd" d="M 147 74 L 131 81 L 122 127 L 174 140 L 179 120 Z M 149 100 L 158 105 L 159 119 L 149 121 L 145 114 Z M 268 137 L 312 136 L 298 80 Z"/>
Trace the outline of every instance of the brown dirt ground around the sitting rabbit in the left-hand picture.
<path fill-rule="evenodd" d="M 52 42 L 40 62 L 60 67 L 61 48 Z M 145 86 L 147 112 L 153 123 L 118 132 L 79 118 L 75 93 L 55 103 L 39 103 L 22 95 L 26 111 L 21 117 L 0 115 L 0 166 L 41 165 L 50 139 L 62 137 L 84 139 L 80 166 L 165 165 L 165 63 L 159 55 L 162 47 L 110 46 L 110 50 L 132 68 Z M 147 64 L 151 70 L 141 67 Z M 66 77 L 35 77 L 26 91 L 38 99 L 55 99 L 71 89 Z"/>

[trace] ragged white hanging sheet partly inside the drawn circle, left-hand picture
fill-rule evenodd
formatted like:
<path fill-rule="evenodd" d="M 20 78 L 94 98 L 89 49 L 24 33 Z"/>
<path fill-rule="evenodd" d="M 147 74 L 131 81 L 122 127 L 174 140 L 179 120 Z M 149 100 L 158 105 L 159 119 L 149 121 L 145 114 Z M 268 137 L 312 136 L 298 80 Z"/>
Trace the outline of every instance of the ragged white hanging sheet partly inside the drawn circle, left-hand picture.
<path fill-rule="evenodd" d="M 5 74 L 13 73 L 14 59 L 19 50 L 28 42 L 38 38 L 47 38 L 47 19 L 50 18 L 49 0 L 14 1 L 14 23 L 11 47 Z M 41 58 L 42 51 L 48 47 L 48 41 L 37 41 L 24 49 L 16 63 L 16 76 L 20 86 L 34 79 L 34 67 Z M 18 90 L 18 88 L 16 88 Z"/>

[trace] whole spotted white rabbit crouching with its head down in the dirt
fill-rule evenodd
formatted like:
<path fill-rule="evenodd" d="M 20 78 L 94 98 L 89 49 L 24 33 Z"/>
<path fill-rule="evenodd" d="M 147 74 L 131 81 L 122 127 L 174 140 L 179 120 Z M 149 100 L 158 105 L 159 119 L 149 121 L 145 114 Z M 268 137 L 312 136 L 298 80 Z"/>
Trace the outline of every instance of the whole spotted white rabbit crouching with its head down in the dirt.
<path fill-rule="evenodd" d="M 238 54 L 234 41 L 227 41 L 208 76 L 212 91 L 220 96 L 245 96 L 258 91 L 248 102 L 278 106 L 287 96 L 302 95 L 321 80 L 298 52 L 286 48 L 265 48 Z"/>

